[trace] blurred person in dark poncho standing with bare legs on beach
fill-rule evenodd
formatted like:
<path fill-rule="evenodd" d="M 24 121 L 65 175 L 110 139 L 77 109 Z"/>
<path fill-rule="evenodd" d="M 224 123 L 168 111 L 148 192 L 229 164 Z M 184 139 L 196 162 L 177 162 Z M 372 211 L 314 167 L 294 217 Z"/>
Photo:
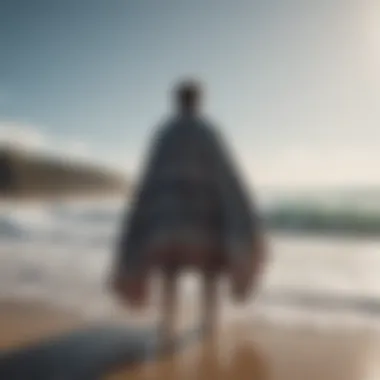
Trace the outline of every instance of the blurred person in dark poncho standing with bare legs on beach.
<path fill-rule="evenodd" d="M 194 269 L 203 279 L 203 327 L 216 325 L 217 282 L 230 279 L 244 302 L 265 257 L 257 210 L 246 194 L 216 128 L 202 115 L 202 87 L 181 82 L 176 112 L 156 131 L 130 210 L 122 225 L 113 286 L 132 306 L 147 300 L 150 274 L 163 274 L 163 334 L 175 332 L 177 282 Z"/>

